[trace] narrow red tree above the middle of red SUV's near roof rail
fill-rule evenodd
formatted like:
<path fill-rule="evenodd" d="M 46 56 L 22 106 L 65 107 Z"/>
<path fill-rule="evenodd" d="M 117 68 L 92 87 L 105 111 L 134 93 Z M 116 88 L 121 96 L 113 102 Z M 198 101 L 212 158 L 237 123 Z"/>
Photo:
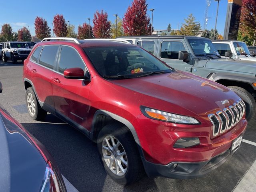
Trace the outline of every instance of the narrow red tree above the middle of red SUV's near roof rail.
<path fill-rule="evenodd" d="M 56 14 L 53 18 L 53 32 L 56 37 L 66 37 L 68 34 L 68 25 L 63 15 Z"/>

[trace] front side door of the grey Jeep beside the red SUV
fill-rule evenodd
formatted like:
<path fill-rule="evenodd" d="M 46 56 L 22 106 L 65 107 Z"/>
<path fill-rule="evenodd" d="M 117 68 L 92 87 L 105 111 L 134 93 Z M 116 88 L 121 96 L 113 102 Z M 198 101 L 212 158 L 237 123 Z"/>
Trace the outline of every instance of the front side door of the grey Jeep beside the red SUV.
<path fill-rule="evenodd" d="M 158 58 L 177 70 L 191 72 L 192 65 L 190 62 L 188 63 L 178 59 L 179 51 L 188 51 L 182 40 L 160 39 L 158 47 Z"/>

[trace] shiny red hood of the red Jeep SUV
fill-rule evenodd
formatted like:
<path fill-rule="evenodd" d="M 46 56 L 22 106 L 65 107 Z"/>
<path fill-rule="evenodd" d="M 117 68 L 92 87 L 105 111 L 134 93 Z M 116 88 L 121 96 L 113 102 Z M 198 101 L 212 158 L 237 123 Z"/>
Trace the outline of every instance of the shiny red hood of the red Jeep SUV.
<path fill-rule="evenodd" d="M 207 116 L 239 99 L 225 86 L 181 71 L 115 80 L 114 84 L 140 93 L 130 97 L 138 105 L 188 116 Z M 229 103 L 222 104 L 224 100 Z"/>

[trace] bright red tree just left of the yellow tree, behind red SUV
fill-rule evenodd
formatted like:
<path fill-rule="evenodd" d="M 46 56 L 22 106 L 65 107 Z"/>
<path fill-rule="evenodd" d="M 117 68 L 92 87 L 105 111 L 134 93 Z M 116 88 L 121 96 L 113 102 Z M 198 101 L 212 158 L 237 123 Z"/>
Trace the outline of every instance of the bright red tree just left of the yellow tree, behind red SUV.
<path fill-rule="evenodd" d="M 106 12 L 98 12 L 94 13 L 94 17 L 92 20 L 93 26 L 93 34 L 96 38 L 111 38 L 111 22 L 108 20 L 108 14 Z"/>

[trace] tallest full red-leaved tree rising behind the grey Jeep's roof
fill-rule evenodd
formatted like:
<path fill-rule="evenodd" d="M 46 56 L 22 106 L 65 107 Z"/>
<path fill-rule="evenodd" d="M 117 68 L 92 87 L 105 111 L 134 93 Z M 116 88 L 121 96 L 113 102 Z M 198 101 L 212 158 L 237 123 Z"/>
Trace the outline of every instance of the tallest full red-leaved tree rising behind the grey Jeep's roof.
<path fill-rule="evenodd" d="M 149 35 L 151 32 L 150 17 L 147 15 L 146 0 L 134 0 L 124 14 L 124 34 L 128 36 Z M 153 30 L 152 30 L 153 31 Z"/>

